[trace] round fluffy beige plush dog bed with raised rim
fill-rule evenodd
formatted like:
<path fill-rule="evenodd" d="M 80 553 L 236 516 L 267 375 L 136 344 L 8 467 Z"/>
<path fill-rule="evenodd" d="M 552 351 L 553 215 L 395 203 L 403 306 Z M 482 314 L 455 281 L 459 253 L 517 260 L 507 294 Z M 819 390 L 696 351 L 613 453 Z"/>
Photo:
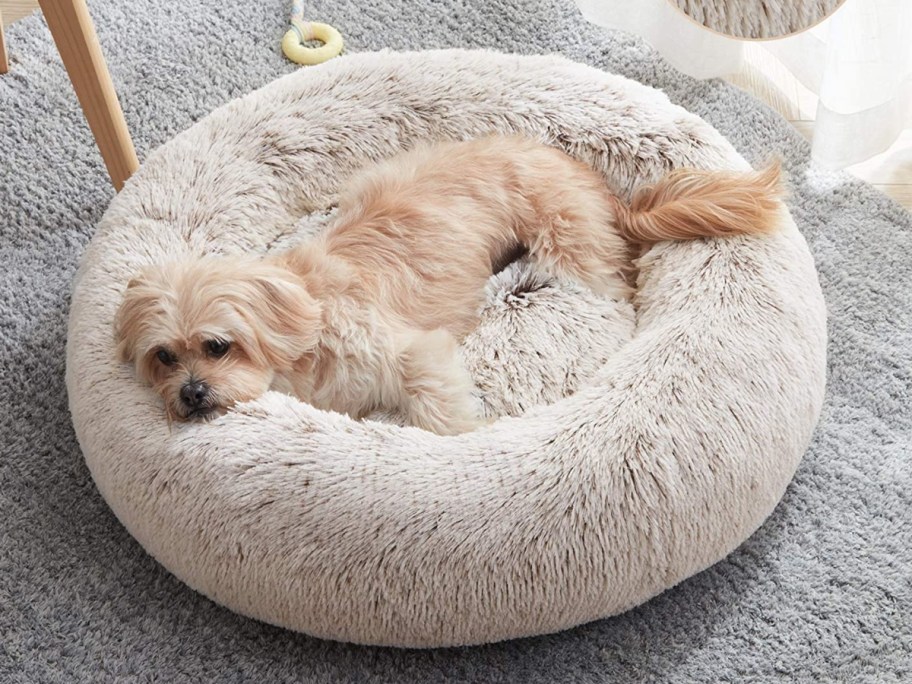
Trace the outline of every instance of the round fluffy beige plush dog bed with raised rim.
<path fill-rule="evenodd" d="M 78 273 L 67 387 L 86 462 L 131 534 L 194 589 L 308 634 L 477 644 L 624 611 L 723 558 L 779 501 L 820 411 L 825 314 L 791 218 L 663 243 L 634 309 L 525 263 L 464 345 L 489 427 L 440 437 L 268 393 L 169 427 L 117 363 L 130 277 L 319 228 L 348 174 L 421 140 L 523 133 L 624 194 L 677 166 L 745 168 L 655 90 L 555 57 L 377 53 L 302 70 L 150 155 Z"/>

